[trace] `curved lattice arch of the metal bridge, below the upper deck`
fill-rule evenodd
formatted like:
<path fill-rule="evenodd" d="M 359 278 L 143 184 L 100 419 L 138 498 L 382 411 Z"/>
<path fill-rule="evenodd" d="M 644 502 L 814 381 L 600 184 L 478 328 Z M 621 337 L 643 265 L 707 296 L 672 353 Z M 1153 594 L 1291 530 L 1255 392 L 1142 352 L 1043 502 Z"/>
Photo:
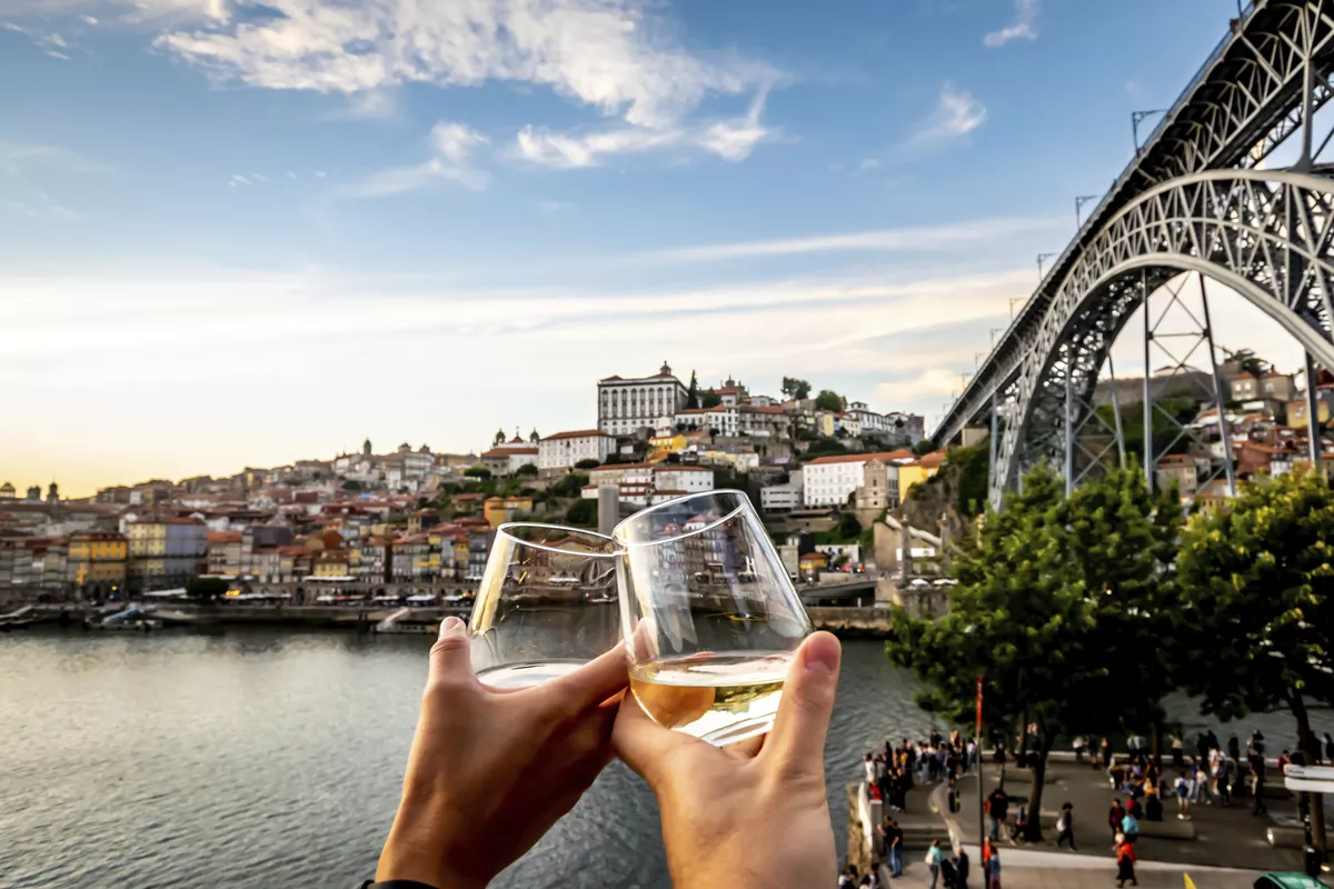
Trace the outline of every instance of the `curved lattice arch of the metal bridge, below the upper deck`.
<path fill-rule="evenodd" d="M 1209 171 L 1171 180 L 1109 220 L 1055 283 L 1018 373 L 1002 391 L 1009 421 L 996 443 L 992 504 L 1014 484 L 1021 462 L 1055 456 L 1053 428 L 1062 427 L 1037 423 L 1038 415 L 1054 403 L 1069 405 L 1070 391 L 1087 412 L 1098 372 L 1131 312 L 1183 271 L 1231 288 L 1334 368 L 1334 180 L 1289 171 Z"/>

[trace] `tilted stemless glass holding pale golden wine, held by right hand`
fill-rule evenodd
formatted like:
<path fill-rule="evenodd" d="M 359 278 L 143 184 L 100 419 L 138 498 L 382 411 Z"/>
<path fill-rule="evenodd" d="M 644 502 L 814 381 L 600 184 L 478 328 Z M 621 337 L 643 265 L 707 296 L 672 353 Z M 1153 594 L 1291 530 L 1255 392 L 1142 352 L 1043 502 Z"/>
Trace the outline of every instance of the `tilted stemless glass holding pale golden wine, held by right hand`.
<path fill-rule="evenodd" d="M 671 500 L 612 537 L 630 688 L 644 712 L 719 746 L 768 732 L 811 620 L 746 494 Z"/>

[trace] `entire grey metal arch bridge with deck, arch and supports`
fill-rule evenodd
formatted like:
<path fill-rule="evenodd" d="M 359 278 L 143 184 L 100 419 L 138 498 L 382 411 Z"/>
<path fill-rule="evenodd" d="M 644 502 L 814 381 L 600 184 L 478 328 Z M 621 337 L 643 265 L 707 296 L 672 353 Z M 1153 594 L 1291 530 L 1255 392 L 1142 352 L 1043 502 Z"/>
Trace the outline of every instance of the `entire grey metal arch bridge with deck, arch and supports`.
<path fill-rule="evenodd" d="M 999 506 L 1022 469 L 1063 466 L 1067 489 L 1103 465 L 1126 460 L 1115 421 L 1094 412 L 1093 395 L 1110 349 L 1145 307 L 1143 461 L 1150 485 L 1162 453 L 1153 445 L 1155 409 L 1149 349 L 1158 335 L 1150 299 L 1178 301 L 1182 272 L 1198 272 L 1202 316 L 1197 348 L 1209 348 L 1210 393 L 1222 408 L 1205 279 L 1223 284 L 1278 321 L 1313 364 L 1334 369 L 1334 177 L 1317 163 L 1317 112 L 1334 97 L 1334 0 L 1257 0 L 1137 147 L 1137 156 L 1081 225 L 931 440 L 988 427 L 990 500 Z M 1262 161 L 1299 140 L 1287 171 Z M 1189 309 L 1187 309 L 1189 313 Z M 1158 316 L 1162 319 L 1162 315 Z M 1179 359 L 1185 367 L 1186 359 Z M 1118 391 L 1119 396 L 1119 391 Z M 1307 385 L 1311 457 L 1319 460 L 1314 387 Z M 1119 397 L 1113 399 L 1114 404 Z M 1218 411 L 1223 424 L 1223 411 Z M 1102 429 L 1099 431 L 1099 427 Z M 1235 492 L 1229 436 L 1214 473 Z"/>

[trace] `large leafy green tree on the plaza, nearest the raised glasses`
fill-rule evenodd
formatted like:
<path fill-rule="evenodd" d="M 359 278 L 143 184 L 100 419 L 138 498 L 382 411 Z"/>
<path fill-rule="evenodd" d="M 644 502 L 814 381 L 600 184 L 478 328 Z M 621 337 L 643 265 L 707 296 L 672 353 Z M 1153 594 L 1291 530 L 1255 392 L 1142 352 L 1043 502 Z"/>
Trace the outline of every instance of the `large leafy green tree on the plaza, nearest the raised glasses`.
<path fill-rule="evenodd" d="M 955 725 L 970 721 L 982 676 L 992 729 L 1014 737 L 1037 726 L 1029 808 L 1041 812 L 1058 736 L 1154 716 L 1166 678 L 1162 669 L 1146 678 L 1162 648 L 1151 614 L 1170 598 L 1163 565 L 1179 508 L 1149 497 L 1134 470 L 1090 481 L 1067 500 L 1046 468 L 1030 472 L 1005 506 L 959 541 L 948 614 L 922 621 L 896 609 L 887 650 L 922 680 L 919 704 Z M 1041 818 L 1031 818 L 1027 838 L 1041 836 Z"/>

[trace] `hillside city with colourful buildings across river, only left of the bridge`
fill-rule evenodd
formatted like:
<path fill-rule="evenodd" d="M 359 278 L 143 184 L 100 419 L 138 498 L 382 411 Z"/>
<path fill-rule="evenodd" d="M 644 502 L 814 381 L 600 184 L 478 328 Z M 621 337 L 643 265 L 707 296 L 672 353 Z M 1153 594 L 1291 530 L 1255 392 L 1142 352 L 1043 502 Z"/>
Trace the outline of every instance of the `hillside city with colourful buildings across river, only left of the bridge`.
<path fill-rule="evenodd" d="M 730 379 L 700 388 L 663 364 L 596 388 L 596 425 L 498 431 L 478 453 L 408 444 L 376 453 L 368 440 L 332 458 L 113 485 L 77 500 L 61 498 L 57 482 L 20 494 L 5 481 L 0 604 L 115 600 L 196 577 L 225 580 L 232 593 L 277 585 L 299 601 L 388 584 L 475 586 L 500 524 L 594 526 L 599 486 L 615 486 L 622 514 L 740 486 L 776 525 L 827 530 L 839 508 L 875 516 L 896 506 L 900 489 L 944 462 L 943 453 L 914 453 L 920 416 L 812 395 L 802 380 L 784 379 L 779 399 Z M 795 540 L 784 556 L 795 576 Z M 839 556 L 856 561 L 859 548 L 812 550 L 806 568 Z"/>

